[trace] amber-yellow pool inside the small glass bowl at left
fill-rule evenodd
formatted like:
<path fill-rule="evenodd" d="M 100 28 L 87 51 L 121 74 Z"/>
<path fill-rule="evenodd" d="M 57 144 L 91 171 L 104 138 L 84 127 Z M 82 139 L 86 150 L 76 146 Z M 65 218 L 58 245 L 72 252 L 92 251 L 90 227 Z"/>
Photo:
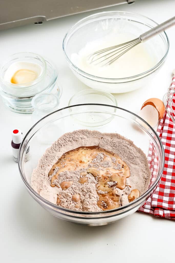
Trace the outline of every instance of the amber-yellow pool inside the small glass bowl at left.
<path fill-rule="evenodd" d="M 20 69 L 14 73 L 11 78 L 13 84 L 24 84 L 34 81 L 37 78 L 37 74 L 28 69 Z"/>

